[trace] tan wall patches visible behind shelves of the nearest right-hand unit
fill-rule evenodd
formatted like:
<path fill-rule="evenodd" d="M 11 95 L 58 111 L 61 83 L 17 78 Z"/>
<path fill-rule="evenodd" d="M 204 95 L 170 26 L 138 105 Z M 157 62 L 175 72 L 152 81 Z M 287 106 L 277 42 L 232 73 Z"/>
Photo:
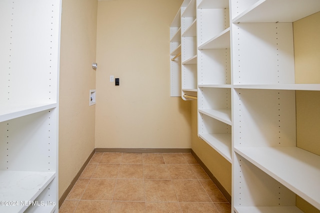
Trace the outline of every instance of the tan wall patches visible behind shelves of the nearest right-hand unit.
<path fill-rule="evenodd" d="M 293 23 L 295 83 L 320 83 L 320 12 Z M 320 92 L 296 91 L 296 146 L 320 155 Z M 320 213 L 301 198 L 296 206 Z"/>

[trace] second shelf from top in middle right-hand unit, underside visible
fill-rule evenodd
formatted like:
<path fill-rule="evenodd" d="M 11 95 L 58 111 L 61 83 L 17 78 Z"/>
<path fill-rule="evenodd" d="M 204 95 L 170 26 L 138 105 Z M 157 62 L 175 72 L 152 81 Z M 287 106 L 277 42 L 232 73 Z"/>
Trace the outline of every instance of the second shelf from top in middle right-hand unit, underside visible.
<path fill-rule="evenodd" d="M 230 27 L 220 34 L 204 42 L 198 49 L 229 49 L 230 48 Z"/>

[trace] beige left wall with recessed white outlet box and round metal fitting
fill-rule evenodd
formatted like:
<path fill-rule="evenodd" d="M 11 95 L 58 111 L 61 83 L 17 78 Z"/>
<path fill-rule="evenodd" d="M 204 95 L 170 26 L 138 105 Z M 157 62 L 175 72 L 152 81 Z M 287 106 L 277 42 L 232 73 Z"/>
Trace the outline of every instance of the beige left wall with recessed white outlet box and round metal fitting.
<path fill-rule="evenodd" d="M 59 86 L 59 198 L 94 149 L 96 0 L 62 0 Z"/>

